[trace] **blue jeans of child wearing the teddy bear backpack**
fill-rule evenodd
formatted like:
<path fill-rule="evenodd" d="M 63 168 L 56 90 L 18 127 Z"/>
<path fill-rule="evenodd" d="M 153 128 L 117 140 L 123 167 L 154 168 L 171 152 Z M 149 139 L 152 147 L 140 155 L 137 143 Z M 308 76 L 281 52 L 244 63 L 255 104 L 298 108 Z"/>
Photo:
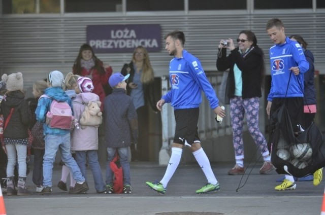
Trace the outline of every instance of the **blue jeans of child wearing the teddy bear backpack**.
<path fill-rule="evenodd" d="M 76 161 L 86 181 L 87 181 L 86 178 L 87 159 L 88 159 L 89 167 L 92 171 L 93 181 L 95 183 L 95 189 L 97 192 L 103 192 L 105 190 L 105 185 L 103 181 L 101 166 L 100 163 L 98 162 L 97 150 L 76 151 Z"/>

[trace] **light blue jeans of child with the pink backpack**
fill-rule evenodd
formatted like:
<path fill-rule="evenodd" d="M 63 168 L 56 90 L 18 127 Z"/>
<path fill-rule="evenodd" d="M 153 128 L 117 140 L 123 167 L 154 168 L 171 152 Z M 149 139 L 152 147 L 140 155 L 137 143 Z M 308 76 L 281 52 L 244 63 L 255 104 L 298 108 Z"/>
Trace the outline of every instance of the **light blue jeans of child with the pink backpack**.
<path fill-rule="evenodd" d="M 70 148 L 70 133 L 64 135 L 46 134 L 45 154 L 43 160 L 44 187 L 52 187 L 53 163 L 57 150 L 60 151 L 62 161 L 69 167 L 76 182 L 83 183 L 85 181 L 77 162 L 72 158 Z"/>

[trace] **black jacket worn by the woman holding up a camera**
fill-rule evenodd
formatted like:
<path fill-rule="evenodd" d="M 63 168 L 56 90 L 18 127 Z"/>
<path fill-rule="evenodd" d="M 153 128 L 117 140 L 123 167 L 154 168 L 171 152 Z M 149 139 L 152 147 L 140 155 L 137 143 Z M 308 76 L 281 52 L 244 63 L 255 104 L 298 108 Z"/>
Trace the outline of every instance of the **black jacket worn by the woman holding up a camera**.
<path fill-rule="evenodd" d="M 262 96 L 262 79 L 261 70 L 264 71 L 264 54 L 261 48 L 255 46 L 245 57 L 241 55 L 239 49 L 236 48 L 231 51 L 230 55 L 226 57 L 226 49 L 219 49 L 216 66 L 219 71 L 229 69 L 228 79 L 229 98 L 235 97 L 235 76 L 234 65 L 237 64 L 238 68 L 242 71 L 242 98 L 252 98 Z"/>

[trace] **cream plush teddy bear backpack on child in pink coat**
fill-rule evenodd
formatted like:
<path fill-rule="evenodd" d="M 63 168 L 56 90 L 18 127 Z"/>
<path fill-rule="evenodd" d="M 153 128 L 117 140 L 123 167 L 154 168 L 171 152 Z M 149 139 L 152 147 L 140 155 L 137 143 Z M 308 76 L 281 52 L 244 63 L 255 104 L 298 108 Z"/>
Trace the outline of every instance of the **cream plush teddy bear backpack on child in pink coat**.
<path fill-rule="evenodd" d="M 88 126 L 99 127 L 103 122 L 103 113 L 101 112 L 101 104 L 100 101 L 90 101 L 87 106 L 85 106 L 85 110 L 83 111 L 81 118 L 79 120 L 79 124 L 81 128 L 86 128 Z"/>

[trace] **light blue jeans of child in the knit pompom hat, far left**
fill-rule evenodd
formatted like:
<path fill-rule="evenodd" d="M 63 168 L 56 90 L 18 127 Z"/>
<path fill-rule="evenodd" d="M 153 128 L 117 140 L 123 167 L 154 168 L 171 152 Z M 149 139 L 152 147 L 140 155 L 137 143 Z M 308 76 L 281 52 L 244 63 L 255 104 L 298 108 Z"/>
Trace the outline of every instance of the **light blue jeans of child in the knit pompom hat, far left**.
<path fill-rule="evenodd" d="M 14 169 L 16 162 L 18 160 L 18 176 L 26 177 L 26 156 L 27 156 L 27 146 L 20 144 L 7 144 L 7 155 L 8 155 L 8 164 L 7 164 L 7 177 L 14 176 Z"/>

